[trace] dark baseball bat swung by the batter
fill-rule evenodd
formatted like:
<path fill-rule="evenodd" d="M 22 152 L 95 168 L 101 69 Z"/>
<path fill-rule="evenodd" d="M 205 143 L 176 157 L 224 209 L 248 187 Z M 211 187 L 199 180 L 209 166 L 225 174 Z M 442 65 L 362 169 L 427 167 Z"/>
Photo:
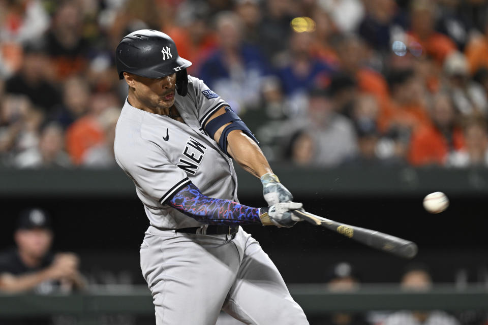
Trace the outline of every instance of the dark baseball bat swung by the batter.
<path fill-rule="evenodd" d="M 417 254 L 417 245 L 414 242 L 383 234 L 374 230 L 356 227 L 353 225 L 329 220 L 304 210 L 295 210 L 297 216 L 315 225 L 321 225 L 336 233 L 352 238 L 364 245 L 383 250 L 397 256 L 412 258 Z"/>

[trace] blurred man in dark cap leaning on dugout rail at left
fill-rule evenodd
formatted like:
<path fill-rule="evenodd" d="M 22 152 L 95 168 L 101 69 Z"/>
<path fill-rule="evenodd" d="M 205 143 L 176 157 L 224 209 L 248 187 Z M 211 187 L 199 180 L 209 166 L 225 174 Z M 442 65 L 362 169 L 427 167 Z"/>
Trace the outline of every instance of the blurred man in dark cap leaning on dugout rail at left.
<path fill-rule="evenodd" d="M 14 234 L 16 248 L 0 254 L 0 291 L 33 291 L 49 294 L 56 290 L 83 287 L 78 257 L 50 252 L 51 221 L 41 209 L 21 213 Z"/>

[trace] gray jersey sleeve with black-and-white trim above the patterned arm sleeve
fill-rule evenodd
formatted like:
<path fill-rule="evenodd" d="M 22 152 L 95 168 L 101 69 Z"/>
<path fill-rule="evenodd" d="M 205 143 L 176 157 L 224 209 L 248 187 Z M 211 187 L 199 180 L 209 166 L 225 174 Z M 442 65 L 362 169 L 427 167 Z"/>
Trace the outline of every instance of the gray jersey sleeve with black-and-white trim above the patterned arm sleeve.
<path fill-rule="evenodd" d="M 142 140 L 134 151 L 117 156 L 117 162 L 134 181 L 139 190 L 159 203 L 164 202 L 190 184 L 187 174 L 171 164 L 164 150 L 157 144 Z"/>

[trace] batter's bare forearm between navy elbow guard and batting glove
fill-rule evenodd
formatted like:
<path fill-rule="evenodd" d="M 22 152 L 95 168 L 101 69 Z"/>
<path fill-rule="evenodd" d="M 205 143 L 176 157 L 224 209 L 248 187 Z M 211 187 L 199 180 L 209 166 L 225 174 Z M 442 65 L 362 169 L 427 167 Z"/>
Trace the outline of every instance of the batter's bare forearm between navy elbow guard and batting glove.
<path fill-rule="evenodd" d="M 227 137 L 227 141 L 227 151 L 247 172 L 258 178 L 266 173 L 273 173 L 258 144 L 243 132 L 232 131 Z"/>

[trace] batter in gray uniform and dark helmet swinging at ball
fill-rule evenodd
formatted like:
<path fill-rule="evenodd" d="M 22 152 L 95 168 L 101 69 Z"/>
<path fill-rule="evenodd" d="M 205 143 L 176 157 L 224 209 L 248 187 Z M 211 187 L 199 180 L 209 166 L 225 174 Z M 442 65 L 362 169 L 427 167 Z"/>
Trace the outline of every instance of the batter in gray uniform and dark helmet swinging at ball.
<path fill-rule="evenodd" d="M 308 324 L 276 266 L 240 227 L 291 227 L 300 209 L 244 122 L 202 80 L 173 40 L 138 30 L 117 46 L 129 95 L 115 158 L 134 181 L 150 226 L 141 269 L 158 325 L 214 325 L 221 310 L 246 324 Z M 241 205 L 232 159 L 263 184 L 269 207 Z"/>

